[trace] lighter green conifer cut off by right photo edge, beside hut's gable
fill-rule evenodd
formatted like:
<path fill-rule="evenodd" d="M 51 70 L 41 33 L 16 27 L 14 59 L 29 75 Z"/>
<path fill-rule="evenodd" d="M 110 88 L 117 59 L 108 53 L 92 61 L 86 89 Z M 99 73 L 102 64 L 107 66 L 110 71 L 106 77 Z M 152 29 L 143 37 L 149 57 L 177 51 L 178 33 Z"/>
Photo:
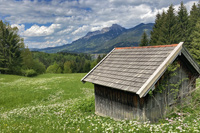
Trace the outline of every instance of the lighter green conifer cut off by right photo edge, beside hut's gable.
<path fill-rule="evenodd" d="M 195 30 L 191 34 L 192 42 L 190 53 L 196 59 L 198 64 L 200 64 L 200 19 L 197 21 Z"/>

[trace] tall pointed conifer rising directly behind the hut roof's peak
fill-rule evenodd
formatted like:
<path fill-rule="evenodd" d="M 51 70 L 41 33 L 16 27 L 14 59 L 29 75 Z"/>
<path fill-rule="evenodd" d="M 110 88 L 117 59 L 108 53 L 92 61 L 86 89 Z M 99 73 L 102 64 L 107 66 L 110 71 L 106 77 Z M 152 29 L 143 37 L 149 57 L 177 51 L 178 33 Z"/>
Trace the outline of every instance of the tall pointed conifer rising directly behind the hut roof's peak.
<path fill-rule="evenodd" d="M 184 6 L 183 2 L 179 7 L 178 16 L 177 16 L 177 42 L 187 42 L 189 38 L 188 29 L 189 29 L 189 19 L 187 9 Z"/>

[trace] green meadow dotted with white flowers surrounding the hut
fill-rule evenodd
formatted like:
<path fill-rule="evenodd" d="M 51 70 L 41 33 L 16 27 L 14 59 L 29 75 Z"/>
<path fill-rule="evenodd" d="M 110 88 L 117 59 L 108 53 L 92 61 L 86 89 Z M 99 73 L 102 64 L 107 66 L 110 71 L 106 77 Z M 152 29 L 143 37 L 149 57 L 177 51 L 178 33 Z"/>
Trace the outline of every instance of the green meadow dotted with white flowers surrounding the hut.
<path fill-rule="evenodd" d="M 80 82 L 84 75 L 0 74 L 0 132 L 200 132 L 200 89 L 157 124 L 115 121 L 95 115 L 93 85 Z"/>

